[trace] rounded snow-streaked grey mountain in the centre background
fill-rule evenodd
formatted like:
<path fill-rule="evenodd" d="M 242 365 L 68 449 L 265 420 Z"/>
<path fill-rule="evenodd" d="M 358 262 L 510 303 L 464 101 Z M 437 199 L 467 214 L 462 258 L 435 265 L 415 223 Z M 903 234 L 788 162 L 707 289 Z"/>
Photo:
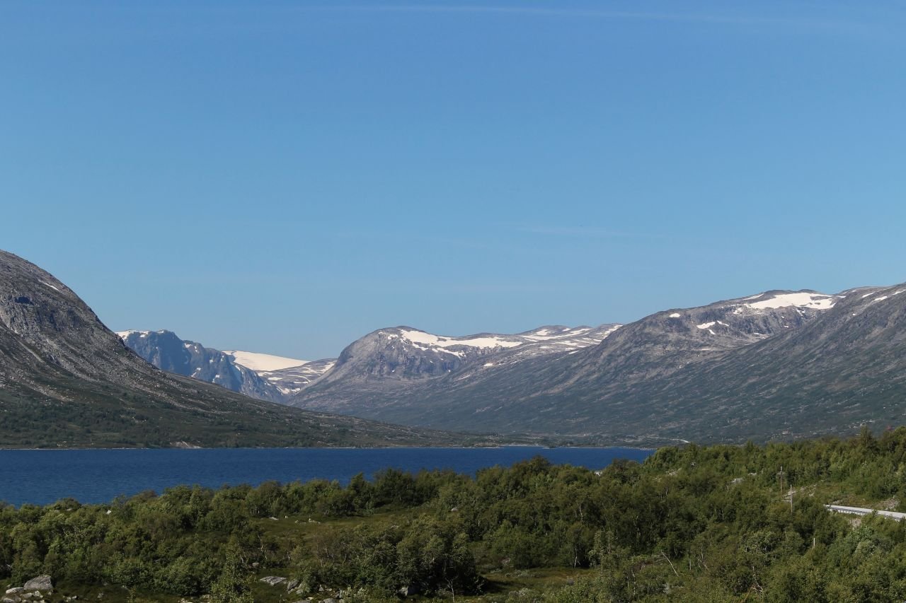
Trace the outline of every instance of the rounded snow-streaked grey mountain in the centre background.
<path fill-rule="evenodd" d="M 330 408 L 354 416 L 380 414 L 391 400 L 408 399 L 426 384 L 470 380 L 528 359 L 571 354 L 600 343 L 619 325 L 539 327 L 512 335 L 433 335 L 411 327 L 376 330 L 342 350 L 332 369 L 290 399 L 291 405 Z"/>

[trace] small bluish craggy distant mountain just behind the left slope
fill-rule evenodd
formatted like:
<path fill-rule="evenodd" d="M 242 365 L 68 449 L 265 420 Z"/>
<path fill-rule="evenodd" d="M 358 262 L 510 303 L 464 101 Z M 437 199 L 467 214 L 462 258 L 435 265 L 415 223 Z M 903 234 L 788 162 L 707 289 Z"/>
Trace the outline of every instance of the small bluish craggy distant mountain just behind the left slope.
<path fill-rule="evenodd" d="M 239 364 L 232 354 L 205 348 L 195 341 L 180 340 L 169 330 L 125 330 L 117 335 L 158 369 L 207 381 L 259 400 L 284 401 L 282 391 L 255 370 Z"/>

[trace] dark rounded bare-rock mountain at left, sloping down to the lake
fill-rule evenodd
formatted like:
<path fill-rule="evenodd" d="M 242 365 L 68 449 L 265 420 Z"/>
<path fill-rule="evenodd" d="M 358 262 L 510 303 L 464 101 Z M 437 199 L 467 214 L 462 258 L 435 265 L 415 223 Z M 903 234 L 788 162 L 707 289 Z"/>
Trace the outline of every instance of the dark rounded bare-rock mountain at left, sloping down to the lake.
<path fill-rule="evenodd" d="M 460 443 L 156 369 L 63 282 L 0 252 L 0 447 Z"/>

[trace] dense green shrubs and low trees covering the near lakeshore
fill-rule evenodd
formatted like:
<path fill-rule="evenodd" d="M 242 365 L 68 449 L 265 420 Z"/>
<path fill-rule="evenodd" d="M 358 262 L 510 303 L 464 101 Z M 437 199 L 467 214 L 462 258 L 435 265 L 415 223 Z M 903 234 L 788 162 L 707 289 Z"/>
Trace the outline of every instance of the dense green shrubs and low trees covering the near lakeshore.
<path fill-rule="evenodd" d="M 824 503 L 904 500 L 906 428 L 663 448 L 600 472 L 536 458 L 475 478 L 390 470 L 346 486 L 178 487 L 109 505 L 5 507 L 0 585 L 48 573 L 71 592 L 115 587 L 106 600 L 344 589 L 345 600 L 381 601 L 402 587 L 553 603 L 903 600 L 906 524 Z M 298 590 L 256 580 L 269 575 Z"/>

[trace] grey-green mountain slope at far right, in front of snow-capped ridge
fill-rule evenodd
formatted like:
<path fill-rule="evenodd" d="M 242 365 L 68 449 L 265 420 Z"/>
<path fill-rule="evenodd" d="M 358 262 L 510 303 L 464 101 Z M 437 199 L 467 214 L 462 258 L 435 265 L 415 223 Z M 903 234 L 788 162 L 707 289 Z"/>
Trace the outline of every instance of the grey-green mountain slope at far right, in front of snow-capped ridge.
<path fill-rule="evenodd" d="M 661 429 L 716 429 L 731 439 L 817 436 L 861 425 L 896 426 L 906 416 L 906 285 L 843 292 L 833 311 L 802 329 L 653 381 L 639 399 Z M 707 419 L 689 421 L 696 408 Z M 651 418 L 638 413 L 643 425 Z"/>

